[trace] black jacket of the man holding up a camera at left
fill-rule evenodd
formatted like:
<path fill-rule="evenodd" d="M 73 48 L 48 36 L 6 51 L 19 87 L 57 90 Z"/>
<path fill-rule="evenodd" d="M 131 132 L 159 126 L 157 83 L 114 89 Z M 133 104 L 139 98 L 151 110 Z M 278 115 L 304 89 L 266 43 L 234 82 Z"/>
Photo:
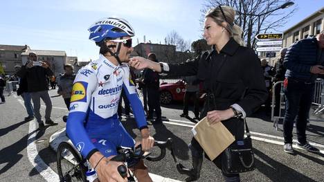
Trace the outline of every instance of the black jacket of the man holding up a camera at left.
<path fill-rule="evenodd" d="M 53 71 L 49 67 L 45 69 L 42 66 L 33 66 L 28 69 L 26 66 L 21 66 L 17 75 L 20 78 L 26 77 L 28 92 L 47 91 L 48 81 L 46 78 L 53 75 Z"/>

